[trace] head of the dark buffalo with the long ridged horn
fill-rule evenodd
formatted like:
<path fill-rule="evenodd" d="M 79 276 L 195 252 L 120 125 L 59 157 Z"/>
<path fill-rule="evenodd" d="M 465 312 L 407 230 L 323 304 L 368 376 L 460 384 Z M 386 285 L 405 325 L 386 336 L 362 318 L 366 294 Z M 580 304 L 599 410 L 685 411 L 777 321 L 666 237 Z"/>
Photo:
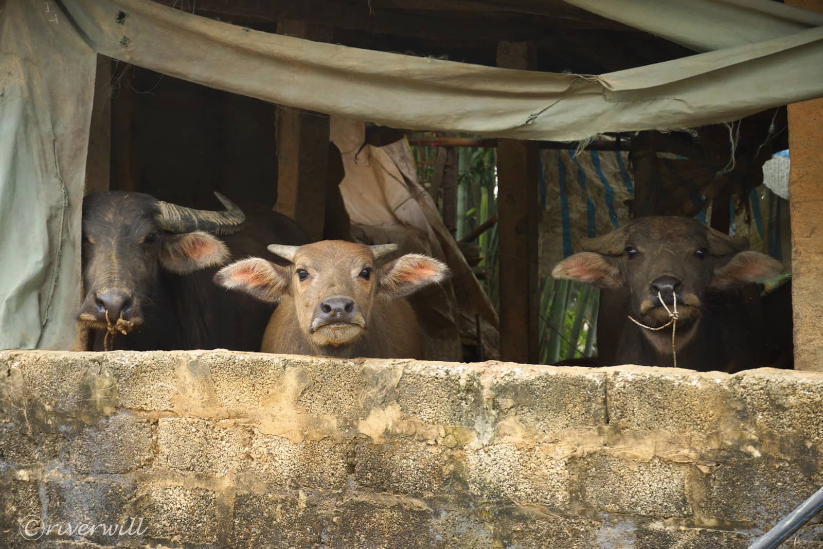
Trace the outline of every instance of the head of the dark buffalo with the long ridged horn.
<path fill-rule="evenodd" d="M 160 270 L 188 274 L 226 262 L 215 236 L 237 232 L 244 214 L 221 194 L 226 212 L 203 212 L 142 193 L 95 193 L 83 199 L 83 284 L 77 319 L 88 328 L 130 333 L 146 321 Z"/>

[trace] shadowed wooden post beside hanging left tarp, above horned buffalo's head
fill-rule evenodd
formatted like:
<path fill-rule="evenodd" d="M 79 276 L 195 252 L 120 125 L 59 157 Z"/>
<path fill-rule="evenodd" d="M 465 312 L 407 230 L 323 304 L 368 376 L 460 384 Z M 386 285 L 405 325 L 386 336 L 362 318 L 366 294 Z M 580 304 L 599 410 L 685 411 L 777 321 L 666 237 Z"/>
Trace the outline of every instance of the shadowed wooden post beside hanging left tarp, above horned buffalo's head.
<path fill-rule="evenodd" d="M 85 194 L 109 190 L 111 170 L 111 58 L 97 55 L 95 99 L 91 105 Z"/>

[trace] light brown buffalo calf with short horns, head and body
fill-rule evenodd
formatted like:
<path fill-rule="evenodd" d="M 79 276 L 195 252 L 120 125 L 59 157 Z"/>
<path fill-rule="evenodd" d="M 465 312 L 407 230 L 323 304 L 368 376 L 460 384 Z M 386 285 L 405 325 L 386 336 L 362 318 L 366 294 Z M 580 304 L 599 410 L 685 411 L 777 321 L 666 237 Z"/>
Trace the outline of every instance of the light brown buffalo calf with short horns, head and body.
<path fill-rule="evenodd" d="M 381 259 L 393 244 L 323 240 L 272 245 L 280 266 L 249 258 L 222 268 L 215 281 L 267 303 L 280 302 L 263 337 L 264 352 L 349 358 L 421 358 L 420 327 L 405 296 L 444 280 L 448 268 L 425 255 Z"/>

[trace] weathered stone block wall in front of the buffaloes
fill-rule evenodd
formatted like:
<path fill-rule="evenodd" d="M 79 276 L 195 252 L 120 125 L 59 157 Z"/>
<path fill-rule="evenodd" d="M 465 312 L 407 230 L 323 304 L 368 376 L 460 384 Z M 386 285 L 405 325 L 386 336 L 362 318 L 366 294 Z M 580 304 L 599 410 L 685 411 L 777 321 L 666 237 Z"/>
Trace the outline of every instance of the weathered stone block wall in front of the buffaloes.
<path fill-rule="evenodd" d="M 2 351 L 0 547 L 746 547 L 823 484 L 821 403 L 814 372 Z"/>

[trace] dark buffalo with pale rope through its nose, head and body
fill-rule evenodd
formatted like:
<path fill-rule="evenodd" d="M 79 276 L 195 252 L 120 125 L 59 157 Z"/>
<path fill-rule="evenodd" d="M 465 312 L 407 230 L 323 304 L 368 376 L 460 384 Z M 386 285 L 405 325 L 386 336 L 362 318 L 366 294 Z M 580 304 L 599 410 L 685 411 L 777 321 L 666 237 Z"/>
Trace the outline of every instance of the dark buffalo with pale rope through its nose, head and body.
<path fill-rule="evenodd" d="M 764 254 L 688 217 L 642 217 L 557 263 L 556 278 L 602 288 L 597 320 L 601 365 L 671 366 L 677 300 L 677 365 L 737 371 L 770 365 L 760 290 L 783 270 Z M 768 319 L 791 323 L 791 318 Z"/>

